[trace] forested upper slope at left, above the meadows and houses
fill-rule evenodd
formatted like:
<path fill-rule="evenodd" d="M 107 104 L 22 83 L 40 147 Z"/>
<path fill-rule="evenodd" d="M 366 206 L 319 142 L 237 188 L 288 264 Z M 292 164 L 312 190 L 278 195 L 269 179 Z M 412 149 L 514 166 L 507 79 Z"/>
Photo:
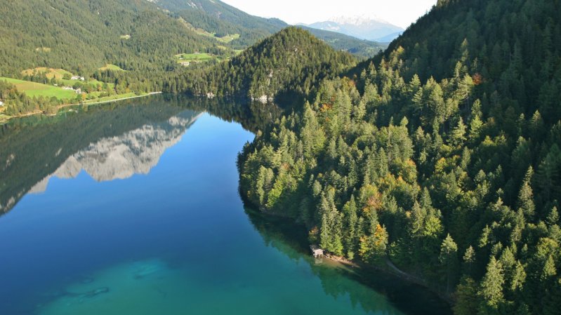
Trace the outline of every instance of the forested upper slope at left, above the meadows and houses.
<path fill-rule="evenodd" d="M 216 46 L 147 1 L 6 1 L 0 15 L 3 76 L 34 67 L 91 74 L 107 63 L 166 69 L 177 53 Z"/>

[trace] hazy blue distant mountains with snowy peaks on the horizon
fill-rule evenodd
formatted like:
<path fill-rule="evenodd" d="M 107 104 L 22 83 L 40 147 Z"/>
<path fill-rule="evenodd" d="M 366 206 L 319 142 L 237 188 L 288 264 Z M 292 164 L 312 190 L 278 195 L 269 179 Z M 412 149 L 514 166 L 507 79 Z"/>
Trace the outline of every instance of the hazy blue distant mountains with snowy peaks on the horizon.
<path fill-rule="evenodd" d="M 396 39 L 404 31 L 402 27 L 392 25 L 390 22 L 385 22 L 378 18 L 368 17 L 367 15 L 341 16 L 305 26 L 382 43 L 388 43 Z"/>

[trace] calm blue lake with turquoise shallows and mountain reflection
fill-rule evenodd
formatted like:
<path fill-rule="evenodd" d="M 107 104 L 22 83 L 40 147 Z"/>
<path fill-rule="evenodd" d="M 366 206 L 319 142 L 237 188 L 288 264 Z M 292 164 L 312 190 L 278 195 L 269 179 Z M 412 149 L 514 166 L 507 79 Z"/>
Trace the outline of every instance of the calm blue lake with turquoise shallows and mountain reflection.
<path fill-rule="evenodd" d="M 264 106 L 157 95 L 0 126 L 0 314 L 451 314 L 244 208 Z"/>

